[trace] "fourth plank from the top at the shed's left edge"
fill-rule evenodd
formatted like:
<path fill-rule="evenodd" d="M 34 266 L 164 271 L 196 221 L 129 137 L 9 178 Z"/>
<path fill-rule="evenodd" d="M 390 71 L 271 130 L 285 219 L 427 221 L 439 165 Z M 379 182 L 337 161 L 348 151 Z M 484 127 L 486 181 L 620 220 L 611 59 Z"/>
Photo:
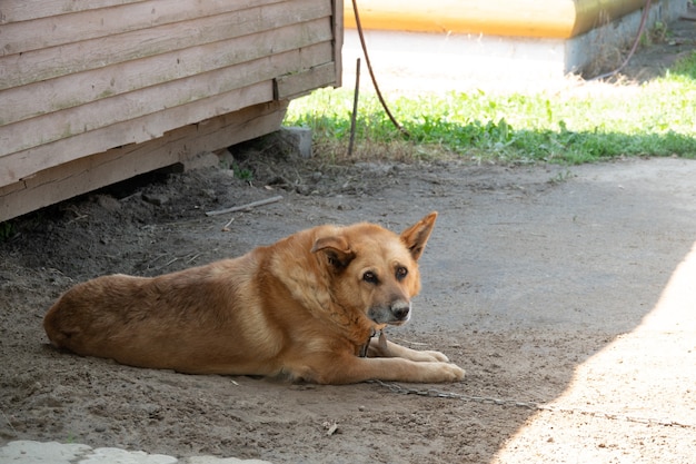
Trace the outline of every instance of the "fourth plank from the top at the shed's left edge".
<path fill-rule="evenodd" d="M 302 33 L 298 31 L 304 28 Z M 0 92 L 0 126 L 331 40 L 321 20 L 176 50 Z M 211 57 L 215 57 L 211 59 Z M 326 61 L 329 61 L 327 59 Z M 314 66 L 316 63 L 312 63 Z M 1 139 L 0 135 L 0 139 Z"/>

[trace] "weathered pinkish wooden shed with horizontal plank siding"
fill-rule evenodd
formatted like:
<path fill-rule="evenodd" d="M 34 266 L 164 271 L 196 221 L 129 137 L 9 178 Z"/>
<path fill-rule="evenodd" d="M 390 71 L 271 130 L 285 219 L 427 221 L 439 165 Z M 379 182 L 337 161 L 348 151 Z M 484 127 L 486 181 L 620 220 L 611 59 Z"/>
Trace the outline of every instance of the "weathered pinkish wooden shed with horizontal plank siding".
<path fill-rule="evenodd" d="M 279 128 L 341 0 L 2 0 L 0 221 Z"/>

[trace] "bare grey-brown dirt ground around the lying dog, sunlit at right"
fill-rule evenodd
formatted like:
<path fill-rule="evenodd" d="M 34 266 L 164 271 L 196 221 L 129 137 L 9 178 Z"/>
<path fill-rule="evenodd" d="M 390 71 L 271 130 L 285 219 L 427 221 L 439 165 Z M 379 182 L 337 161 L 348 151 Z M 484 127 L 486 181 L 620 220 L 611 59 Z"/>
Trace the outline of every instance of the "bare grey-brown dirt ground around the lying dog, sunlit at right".
<path fill-rule="evenodd" d="M 642 76 L 684 52 L 674 47 Z M 250 179 L 153 176 L 12 221 L 0 244 L 0 444 L 275 463 L 693 462 L 696 161 L 235 155 Z M 190 376 L 59 353 L 41 328 L 62 292 L 99 275 L 173 272 L 324 223 L 400 230 L 430 210 L 440 216 L 424 290 L 388 336 L 446 353 L 467 369 L 463 383 L 395 392 Z"/>

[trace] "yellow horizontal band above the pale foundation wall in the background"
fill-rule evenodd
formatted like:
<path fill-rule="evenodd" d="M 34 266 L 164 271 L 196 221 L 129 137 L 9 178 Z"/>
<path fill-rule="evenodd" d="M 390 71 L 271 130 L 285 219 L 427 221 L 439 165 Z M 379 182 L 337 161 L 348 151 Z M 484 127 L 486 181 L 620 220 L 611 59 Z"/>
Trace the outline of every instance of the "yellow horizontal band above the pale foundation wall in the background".
<path fill-rule="evenodd" d="M 357 0 L 364 29 L 567 39 L 642 8 L 646 0 Z M 345 26 L 355 28 L 352 0 Z"/>

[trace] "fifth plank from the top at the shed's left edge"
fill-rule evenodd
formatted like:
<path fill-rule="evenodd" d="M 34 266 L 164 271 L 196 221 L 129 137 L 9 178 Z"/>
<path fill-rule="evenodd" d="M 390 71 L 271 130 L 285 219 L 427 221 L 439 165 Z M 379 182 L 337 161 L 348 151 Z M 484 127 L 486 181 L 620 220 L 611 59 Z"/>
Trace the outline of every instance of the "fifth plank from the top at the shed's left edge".
<path fill-rule="evenodd" d="M 326 33 L 330 34 L 329 31 Z M 225 93 L 276 76 L 300 72 L 299 56 L 299 50 L 290 50 L 2 126 L 0 159 L 14 151 Z M 208 115 L 211 116 L 215 115 Z"/>

